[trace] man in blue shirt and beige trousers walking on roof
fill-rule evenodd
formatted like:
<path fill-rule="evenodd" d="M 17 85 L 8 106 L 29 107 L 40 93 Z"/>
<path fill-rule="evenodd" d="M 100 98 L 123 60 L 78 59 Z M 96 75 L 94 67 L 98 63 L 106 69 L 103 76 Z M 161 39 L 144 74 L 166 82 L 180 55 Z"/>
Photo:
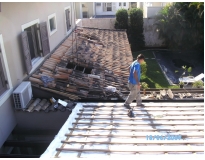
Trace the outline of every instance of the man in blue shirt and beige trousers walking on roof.
<path fill-rule="evenodd" d="M 131 109 L 130 104 L 133 100 L 136 99 L 136 106 L 144 106 L 142 104 L 141 96 L 140 96 L 140 76 L 141 76 L 141 68 L 140 64 L 144 62 L 144 55 L 139 54 L 137 56 L 137 59 L 132 62 L 132 64 L 129 66 L 129 79 L 128 79 L 128 87 L 130 89 L 130 94 L 128 95 L 124 106 L 129 109 L 128 116 L 134 117 L 134 113 L 132 112 L 133 109 Z"/>

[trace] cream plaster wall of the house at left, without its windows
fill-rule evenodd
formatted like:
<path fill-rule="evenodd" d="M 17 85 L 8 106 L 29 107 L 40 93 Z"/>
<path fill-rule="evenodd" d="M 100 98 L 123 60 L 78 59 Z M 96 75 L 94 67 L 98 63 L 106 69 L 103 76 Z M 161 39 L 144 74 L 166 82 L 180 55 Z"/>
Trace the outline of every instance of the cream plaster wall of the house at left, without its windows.
<path fill-rule="evenodd" d="M 68 32 L 66 31 L 64 9 L 69 6 L 72 8 L 72 4 L 73 3 L 70 2 L 1 2 L 0 35 L 4 40 L 3 45 L 5 48 L 8 70 L 10 72 L 13 89 L 15 89 L 27 76 L 20 41 L 22 25 L 36 19 L 39 19 L 40 22 L 46 21 L 48 23 L 48 16 L 56 13 L 56 23 L 58 26 L 57 32 L 51 36 L 49 35 L 50 50 L 52 51 L 68 35 Z M 71 15 L 74 16 L 73 13 L 74 12 L 71 11 Z M 71 24 L 73 24 L 74 28 L 75 19 L 72 18 L 72 20 L 73 22 L 71 22 Z M 71 30 L 69 32 L 71 32 Z M 11 93 L 8 95 L 9 98 L 7 97 L 5 102 L 1 101 L 0 104 L 0 147 L 16 125 L 14 104 Z"/>

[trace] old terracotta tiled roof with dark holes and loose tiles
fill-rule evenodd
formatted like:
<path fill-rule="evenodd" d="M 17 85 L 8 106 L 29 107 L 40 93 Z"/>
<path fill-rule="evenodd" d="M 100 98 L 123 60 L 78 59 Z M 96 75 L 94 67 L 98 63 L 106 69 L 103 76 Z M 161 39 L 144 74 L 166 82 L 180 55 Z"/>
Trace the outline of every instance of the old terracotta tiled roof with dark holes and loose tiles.
<path fill-rule="evenodd" d="M 33 85 L 72 100 L 100 98 L 92 92 L 114 86 L 128 91 L 128 66 L 133 61 L 126 31 L 78 28 L 29 78 Z M 54 80 L 47 85 L 41 80 Z"/>

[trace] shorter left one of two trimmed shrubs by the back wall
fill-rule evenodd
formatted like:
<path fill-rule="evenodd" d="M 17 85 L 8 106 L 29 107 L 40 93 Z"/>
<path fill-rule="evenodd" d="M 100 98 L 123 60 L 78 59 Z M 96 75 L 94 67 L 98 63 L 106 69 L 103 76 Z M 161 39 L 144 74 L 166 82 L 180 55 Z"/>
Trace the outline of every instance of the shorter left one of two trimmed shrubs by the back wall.
<path fill-rule="evenodd" d="M 128 13 L 126 9 L 119 9 L 116 12 L 115 29 L 128 28 Z"/>

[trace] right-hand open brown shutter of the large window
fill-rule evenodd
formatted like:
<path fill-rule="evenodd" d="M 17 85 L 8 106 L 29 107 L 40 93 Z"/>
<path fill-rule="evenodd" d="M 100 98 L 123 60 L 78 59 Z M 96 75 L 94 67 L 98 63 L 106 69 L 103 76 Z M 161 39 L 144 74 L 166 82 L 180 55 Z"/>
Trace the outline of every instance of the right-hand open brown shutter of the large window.
<path fill-rule="evenodd" d="M 46 56 L 48 53 L 50 53 L 50 45 L 48 40 L 48 31 L 47 31 L 46 22 L 40 23 L 40 34 L 41 34 L 43 55 Z"/>

